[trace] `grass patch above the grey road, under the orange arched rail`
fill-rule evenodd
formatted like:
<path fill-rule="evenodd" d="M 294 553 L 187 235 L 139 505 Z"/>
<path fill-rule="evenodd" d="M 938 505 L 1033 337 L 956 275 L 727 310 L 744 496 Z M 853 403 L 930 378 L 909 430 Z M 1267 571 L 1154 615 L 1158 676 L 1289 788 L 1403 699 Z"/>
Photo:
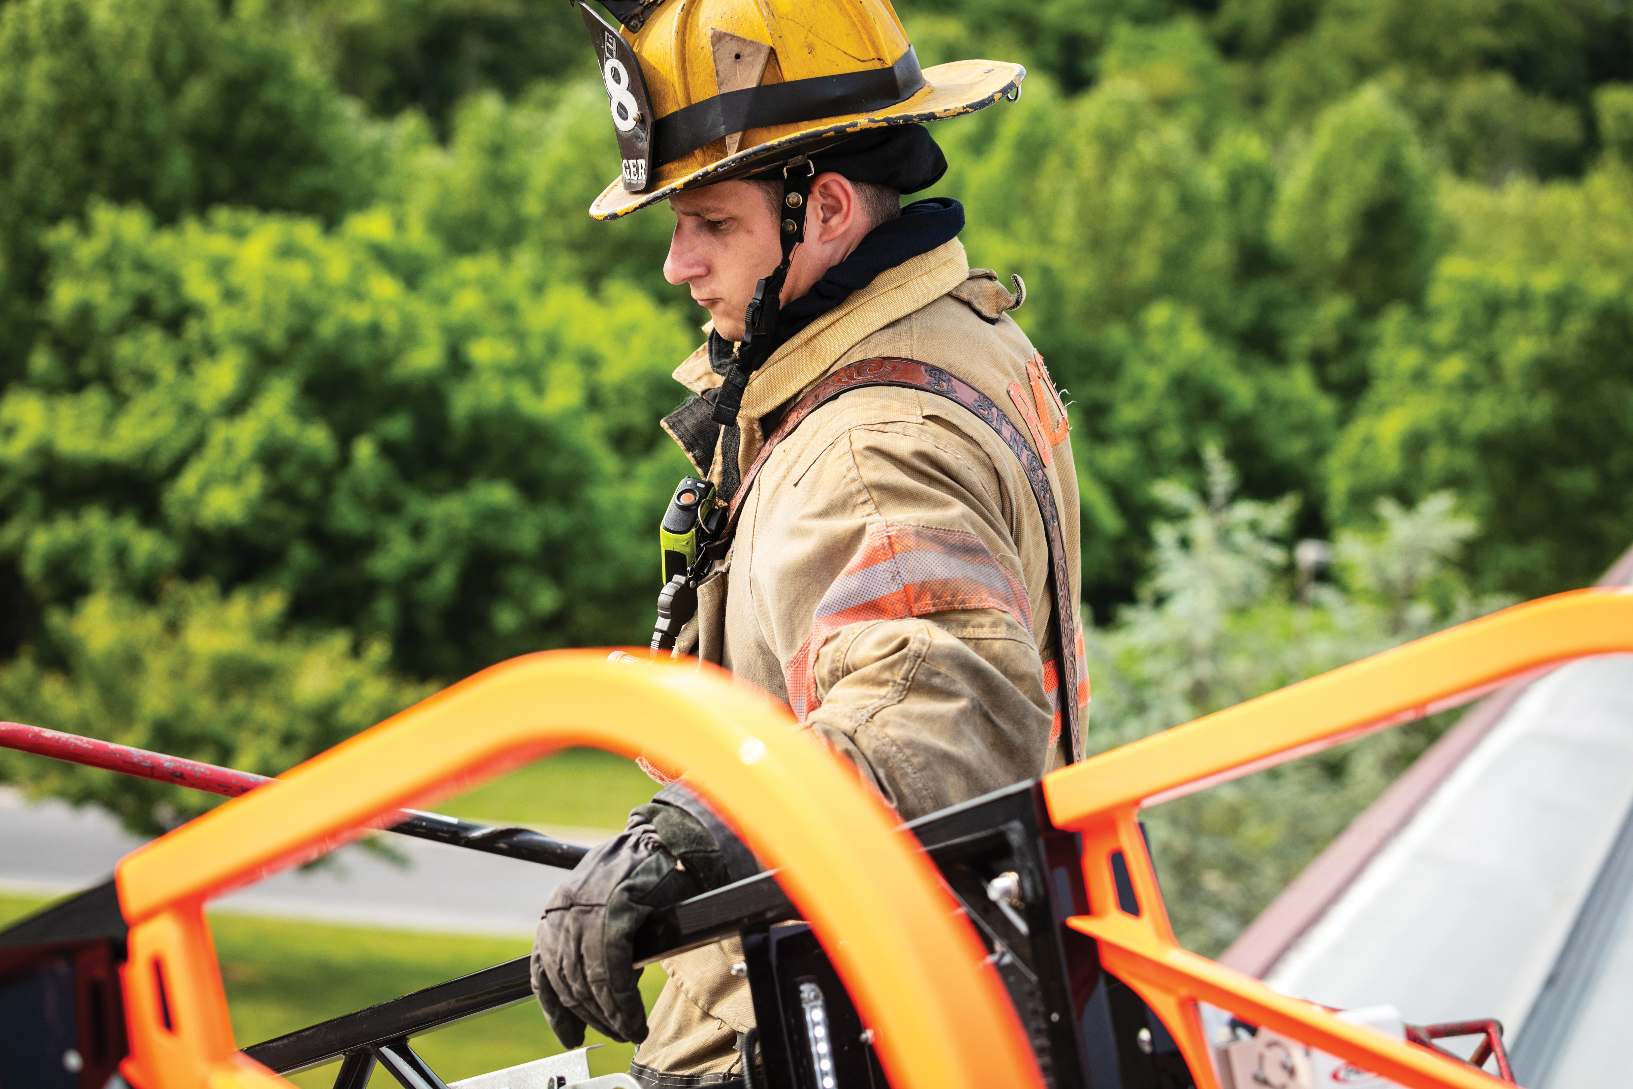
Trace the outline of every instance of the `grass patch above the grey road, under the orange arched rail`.
<path fill-rule="evenodd" d="M 634 761 L 601 749 L 567 749 L 433 808 L 487 825 L 619 829 L 630 808 L 656 792 L 658 784 Z"/>

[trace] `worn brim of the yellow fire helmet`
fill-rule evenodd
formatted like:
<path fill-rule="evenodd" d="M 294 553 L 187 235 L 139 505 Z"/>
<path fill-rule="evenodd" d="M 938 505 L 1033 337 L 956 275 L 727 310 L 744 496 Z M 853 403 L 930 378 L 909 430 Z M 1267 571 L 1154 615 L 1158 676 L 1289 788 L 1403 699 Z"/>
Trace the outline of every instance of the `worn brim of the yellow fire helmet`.
<path fill-rule="evenodd" d="M 834 144 L 864 129 L 880 129 L 892 124 L 923 124 L 944 121 L 977 109 L 985 109 L 999 98 L 1019 98 L 1026 69 L 1004 60 L 954 60 L 924 69 L 924 87 L 895 106 L 846 118 L 813 121 L 808 127 L 781 136 L 754 147 L 745 147 L 689 175 L 668 181 L 650 193 L 630 193 L 622 178 L 601 191 L 590 206 L 590 217 L 599 220 L 621 219 L 639 212 L 648 204 L 666 201 L 683 189 L 696 189 L 717 181 L 730 181 L 764 170 L 818 144 Z"/>

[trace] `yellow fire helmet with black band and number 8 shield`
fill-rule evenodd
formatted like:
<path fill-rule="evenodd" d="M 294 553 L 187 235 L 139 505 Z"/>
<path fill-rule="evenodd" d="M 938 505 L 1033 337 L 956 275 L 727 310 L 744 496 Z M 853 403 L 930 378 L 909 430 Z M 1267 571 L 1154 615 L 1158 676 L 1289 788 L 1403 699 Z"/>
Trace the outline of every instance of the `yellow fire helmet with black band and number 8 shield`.
<path fill-rule="evenodd" d="M 1019 98 L 1026 69 L 919 69 L 890 0 L 583 0 L 622 175 L 590 216 L 771 170 L 861 131 Z M 802 217 L 803 219 L 803 217 Z"/>

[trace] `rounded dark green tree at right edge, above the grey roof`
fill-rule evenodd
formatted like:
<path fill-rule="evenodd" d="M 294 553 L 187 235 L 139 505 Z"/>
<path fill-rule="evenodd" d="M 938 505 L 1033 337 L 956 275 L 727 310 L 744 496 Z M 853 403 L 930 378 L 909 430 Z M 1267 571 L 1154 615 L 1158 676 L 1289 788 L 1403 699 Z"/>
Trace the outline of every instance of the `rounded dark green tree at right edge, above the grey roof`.
<path fill-rule="evenodd" d="M 1633 294 L 1625 273 L 1448 258 L 1422 315 L 1395 310 L 1333 454 L 1331 514 L 1457 488 L 1484 586 L 1586 586 L 1633 539 Z"/>

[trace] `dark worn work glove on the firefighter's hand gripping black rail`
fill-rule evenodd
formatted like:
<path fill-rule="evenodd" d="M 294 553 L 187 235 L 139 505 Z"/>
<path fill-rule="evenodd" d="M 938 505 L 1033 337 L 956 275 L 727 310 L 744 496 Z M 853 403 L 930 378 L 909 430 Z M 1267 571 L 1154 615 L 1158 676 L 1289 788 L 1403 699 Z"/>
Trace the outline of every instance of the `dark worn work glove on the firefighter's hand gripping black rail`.
<path fill-rule="evenodd" d="M 630 810 L 557 887 L 532 944 L 532 993 L 555 1038 L 581 1047 L 585 1025 L 647 1038 L 635 932 L 655 913 L 759 872 L 754 856 L 697 795 L 671 784 Z"/>

